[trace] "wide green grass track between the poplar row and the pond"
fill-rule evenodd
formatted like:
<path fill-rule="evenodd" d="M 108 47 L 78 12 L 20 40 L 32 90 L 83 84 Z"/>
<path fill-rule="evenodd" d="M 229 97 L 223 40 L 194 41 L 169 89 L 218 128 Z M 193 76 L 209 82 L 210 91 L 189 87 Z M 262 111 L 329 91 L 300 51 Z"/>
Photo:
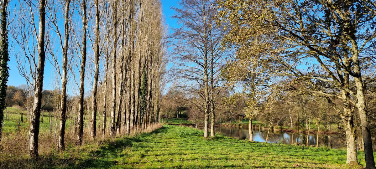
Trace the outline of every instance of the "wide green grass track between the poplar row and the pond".
<path fill-rule="evenodd" d="M 249 142 L 218 135 L 203 139 L 203 131 L 164 125 L 151 133 L 109 139 L 99 144 L 67 147 L 39 162 L 21 158 L 2 161 L 4 167 L 26 168 L 349 168 L 346 151 Z M 358 159 L 364 166 L 364 154 Z M 24 165 L 20 165 L 24 164 Z"/>

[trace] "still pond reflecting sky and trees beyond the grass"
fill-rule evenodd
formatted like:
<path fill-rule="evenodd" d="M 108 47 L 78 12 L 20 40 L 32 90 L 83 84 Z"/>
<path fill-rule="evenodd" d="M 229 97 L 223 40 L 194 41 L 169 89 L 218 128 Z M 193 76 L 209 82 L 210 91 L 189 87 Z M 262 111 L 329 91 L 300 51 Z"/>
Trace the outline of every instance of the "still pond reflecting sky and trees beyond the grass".
<path fill-rule="evenodd" d="M 218 126 L 215 131 L 225 136 L 234 137 L 237 139 L 249 139 L 248 128 L 226 127 Z M 257 142 L 265 142 L 268 131 L 253 129 L 253 140 Z M 334 149 L 346 149 L 345 136 L 341 134 L 319 134 L 318 146 Z M 305 145 L 316 146 L 316 134 L 303 134 L 303 133 L 287 133 L 283 131 L 270 131 L 268 143 L 280 143 L 288 145 Z"/>

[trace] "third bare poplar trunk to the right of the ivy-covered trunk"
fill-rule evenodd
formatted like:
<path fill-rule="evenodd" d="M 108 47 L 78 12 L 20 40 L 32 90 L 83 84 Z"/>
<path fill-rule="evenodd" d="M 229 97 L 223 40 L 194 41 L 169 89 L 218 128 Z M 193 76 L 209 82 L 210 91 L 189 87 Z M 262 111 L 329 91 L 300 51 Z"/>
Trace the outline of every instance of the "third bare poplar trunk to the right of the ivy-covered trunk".
<path fill-rule="evenodd" d="M 83 92 L 85 90 L 85 67 L 86 67 L 86 0 L 82 0 L 82 63 L 80 72 L 80 96 L 79 96 L 79 120 L 78 120 L 78 133 L 77 133 L 77 145 L 82 145 L 83 137 Z"/>

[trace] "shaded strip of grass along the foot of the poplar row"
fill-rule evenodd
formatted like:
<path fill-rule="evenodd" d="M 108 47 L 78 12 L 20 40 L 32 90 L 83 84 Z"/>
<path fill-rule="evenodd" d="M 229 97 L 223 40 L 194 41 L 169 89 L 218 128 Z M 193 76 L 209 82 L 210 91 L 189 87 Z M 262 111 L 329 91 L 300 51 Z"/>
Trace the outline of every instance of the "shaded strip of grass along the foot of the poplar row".
<path fill-rule="evenodd" d="M 40 155 L 38 159 L 9 156 L 0 161 L 0 168 L 109 168 L 118 163 L 114 160 L 120 156 L 118 152 L 131 147 L 135 142 L 145 142 L 146 137 L 151 135 L 166 133 L 167 130 L 168 127 L 161 127 L 135 137 L 102 140 L 99 142 L 99 147 L 94 146 L 94 148 L 73 146 L 64 153 Z"/>

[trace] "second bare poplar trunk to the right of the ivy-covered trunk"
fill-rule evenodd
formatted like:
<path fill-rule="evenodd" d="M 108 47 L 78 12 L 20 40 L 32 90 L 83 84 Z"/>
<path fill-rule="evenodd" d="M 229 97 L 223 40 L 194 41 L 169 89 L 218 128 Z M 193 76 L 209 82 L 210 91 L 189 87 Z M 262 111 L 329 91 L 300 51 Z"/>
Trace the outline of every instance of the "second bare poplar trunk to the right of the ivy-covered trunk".
<path fill-rule="evenodd" d="M 62 79 L 61 79 L 61 115 L 59 124 L 59 142 L 58 150 L 65 150 L 65 122 L 67 121 L 67 58 L 68 58 L 68 43 L 69 43 L 69 7 L 71 0 L 65 1 L 65 18 L 64 18 L 64 48 L 63 50 L 63 63 L 62 63 Z"/>

